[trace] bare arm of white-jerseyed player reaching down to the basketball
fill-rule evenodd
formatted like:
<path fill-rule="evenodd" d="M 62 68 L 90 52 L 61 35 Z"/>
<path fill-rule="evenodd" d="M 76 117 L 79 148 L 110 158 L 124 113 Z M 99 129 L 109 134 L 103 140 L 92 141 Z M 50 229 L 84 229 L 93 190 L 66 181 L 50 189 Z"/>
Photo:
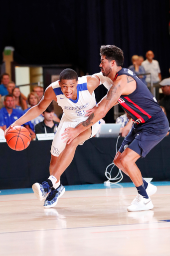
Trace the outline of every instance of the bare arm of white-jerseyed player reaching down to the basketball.
<path fill-rule="evenodd" d="M 48 105 L 51 103 L 52 100 L 57 101 L 56 95 L 54 93 L 54 90 L 52 88 L 52 85 L 49 85 L 44 93 L 44 96 L 39 101 L 39 103 L 35 106 L 32 106 L 26 113 L 24 113 L 20 118 L 18 118 L 16 121 L 14 121 L 5 131 L 4 136 L 6 135 L 6 132 L 10 127 L 16 126 L 16 125 L 22 125 L 25 122 L 28 122 L 35 117 L 39 116 L 45 109 L 48 107 Z"/>

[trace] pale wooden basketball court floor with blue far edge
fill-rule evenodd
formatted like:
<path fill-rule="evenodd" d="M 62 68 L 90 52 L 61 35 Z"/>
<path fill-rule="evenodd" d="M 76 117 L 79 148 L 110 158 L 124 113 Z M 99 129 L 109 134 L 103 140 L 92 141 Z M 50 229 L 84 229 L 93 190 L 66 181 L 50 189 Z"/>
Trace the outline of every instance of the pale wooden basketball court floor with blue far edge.
<path fill-rule="evenodd" d="M 0 256 L 170 256 L 170 182 L 153 210 L 128 212 L 132 183 L 66 186 L 44 209 L 31 188 L 0 191 Z"/>

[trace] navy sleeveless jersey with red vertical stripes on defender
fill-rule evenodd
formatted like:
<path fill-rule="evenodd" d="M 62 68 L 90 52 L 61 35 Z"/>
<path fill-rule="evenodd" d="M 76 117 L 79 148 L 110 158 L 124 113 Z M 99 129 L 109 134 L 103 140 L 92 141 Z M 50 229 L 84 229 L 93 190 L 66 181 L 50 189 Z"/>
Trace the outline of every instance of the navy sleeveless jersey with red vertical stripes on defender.
<path fill-rule="evenodd" d="M 137 87 L 131 94 L 121 95 L 118 102 L 132 116 L 135 123 L 144 123 L 162 111 L 157 99 L 132 70 L 122 68 L 116 74 L 115 80 L 123 74 L 133 77 L 137 83 Z"/>

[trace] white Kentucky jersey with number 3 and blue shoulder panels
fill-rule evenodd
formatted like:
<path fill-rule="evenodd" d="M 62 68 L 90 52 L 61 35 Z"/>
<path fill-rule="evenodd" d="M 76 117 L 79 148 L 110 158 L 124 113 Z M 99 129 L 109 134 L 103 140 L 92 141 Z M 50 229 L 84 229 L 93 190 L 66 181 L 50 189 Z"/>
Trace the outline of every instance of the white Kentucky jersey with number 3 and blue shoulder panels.
<path fill-rule="evenodd" d="M 77 99 L 67 98 L 61 91 L 58 80 L 51 83 L 55 92 L 58 105 L 63 109 L 65 116 L 71 121 L 78 121 L 80 119 L 86 120 L 86 110 L 93 108 L 96 105 L 96 98 L 94 92 L 92 95 L 87 88 L 87 76 L 78 77 L 77 84 Z M 83 120 L 82 120 L 83 121 Z"/>

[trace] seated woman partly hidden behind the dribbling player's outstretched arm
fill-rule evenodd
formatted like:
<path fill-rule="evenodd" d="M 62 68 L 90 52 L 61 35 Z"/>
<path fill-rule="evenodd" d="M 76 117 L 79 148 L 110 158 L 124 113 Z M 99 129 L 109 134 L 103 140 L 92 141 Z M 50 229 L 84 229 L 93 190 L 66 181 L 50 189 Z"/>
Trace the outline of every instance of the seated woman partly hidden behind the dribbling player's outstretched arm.
<path fill-rule="evenodd" d="M 38 104 L 39 99 L 38 99 L 38 95 L 35 92 L 30 92 L 28 94 L 28 98 L 27 98 L 28 104 L 30 105 L 30 107 L 28 107 L 27 109 L 25 109 L 23 112 L 25 113 L 29 108 L 31 108 L 32 106 L 35 106 Z M 35 135 L 35 130 L 34 127 L 37 123 L 43 121 L 44 117 L 42 116 L 42 114 L 40 114 L 39 116 L 37 116 L 36 118 L 34 118 L 33 120 L 30 120 L 28 122 L 26 122 L 24 124 L 24 126 L 29 130 L 30 134 L 31 134 L 31 140 L 34 140 L 36 138 Z"/>

